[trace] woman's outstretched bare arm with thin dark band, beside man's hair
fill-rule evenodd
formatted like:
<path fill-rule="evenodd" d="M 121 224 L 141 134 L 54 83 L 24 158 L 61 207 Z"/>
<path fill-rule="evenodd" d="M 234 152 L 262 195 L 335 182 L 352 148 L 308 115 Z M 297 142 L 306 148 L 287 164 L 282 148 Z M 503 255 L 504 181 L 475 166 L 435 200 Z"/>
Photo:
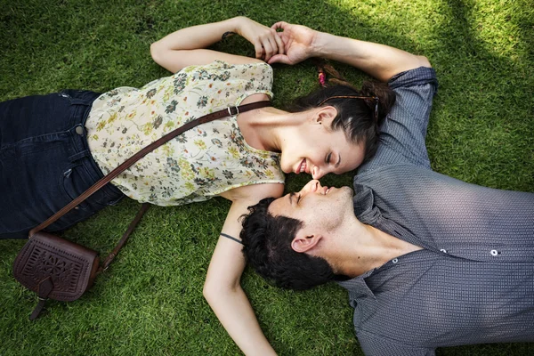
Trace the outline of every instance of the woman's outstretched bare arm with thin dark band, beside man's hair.
<path fill-rule="evenodd" d="M 233 203 L 223 225 L 223 233 L 239 239 L 241 224 L 239 217 L 247 214 L 247 207 L 256 204 L 261 198 L 279 197 L 282 184 L 255 184 L 234 190 L 225 198 Z M 247 355 L 274 355 L 276 352 L 263 336 L 262 329 L 255 318 L 247 295 L 241 288 L 241 274 L 245 268 L 242 245 L 231 239 L 219 237 L 212 256 L 204 285 L 204 296 L 223 324 L 228 334 Z"/>

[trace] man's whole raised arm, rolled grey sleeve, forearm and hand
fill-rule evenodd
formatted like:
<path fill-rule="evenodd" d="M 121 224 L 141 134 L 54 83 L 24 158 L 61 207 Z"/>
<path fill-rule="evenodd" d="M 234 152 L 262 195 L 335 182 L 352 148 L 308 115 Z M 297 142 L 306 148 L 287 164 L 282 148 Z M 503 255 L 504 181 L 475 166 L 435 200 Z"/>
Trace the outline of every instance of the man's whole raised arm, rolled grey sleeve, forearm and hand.
<path fill-rule="evenodd" d="M 295 64 L 310 57 L 342 61 L 387 81 L 396 93 L 395 105 L 380 127 L 381 144 L 376 156 L 360 166 L 359 173 L 400 163 L 430 168 L 425 136 L 437 80 L 426 57 L 287 22 L 278 22 L 272 28 L 283 30 L 278 35 L 285 53 L 272 56 L 269 63 Z"/>

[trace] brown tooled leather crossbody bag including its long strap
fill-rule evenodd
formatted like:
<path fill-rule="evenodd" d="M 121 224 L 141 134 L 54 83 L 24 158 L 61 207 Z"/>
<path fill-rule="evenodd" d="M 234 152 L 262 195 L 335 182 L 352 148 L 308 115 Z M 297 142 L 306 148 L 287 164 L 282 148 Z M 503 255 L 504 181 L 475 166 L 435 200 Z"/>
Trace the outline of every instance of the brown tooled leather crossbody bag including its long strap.
<path fill-rule="evenodd" d="M 13 263 L 13 275 L 15 279 L 22 286 L 36 292 L 39 297 L 39 303 L 37 303 L 29 319 L 35 320 L 39 316 L 47 298 L 62 302 L 71 302 L 77 300 L 87 289 L 92 287 L 95 277 L 101 271 L 108 269 L 109 263 L 113 261 L 118 251 L 125 245 L 130 233 L 134 231 L 135 226 L 139 223 L 142 215 L 150 205 L 147 203 L 142 205 L 141 210 L 135 215 L 134 220 L 128 226 L 128 229 L 119 240 L 117 246 L 101 266 L 100 258 L 96 251 L 67 239 L 62 239 L 51 233 L 44 232 L 43 230 L 47 226 L 57 221 L 62 215 L 67 214 L 75 206 L 78 206 L 95 191 L 101 189 L 101 187 L 150 151 L 172 140 L 177 135 L 190 130 L 190 128 L 196 125 L 204 124 L 217 118 L 233 116 L 239 114 L 239 112 L 246 112 L 266 106 L 271 106 L 271 101 L 257 101 L 239 107 L 229 107 L 182 125 L 182 127 L 166 134 L 158 141 L 150 143 L 150 145 L 134 154 L 131 158 L 126 159 L 124 163 L 117 166 L 108 175 L 101 178 L 100 181 L 94 183 L 91 188 L 85 190 L 83 194 L 72 200 L 67 206 L 64 206 L 60 211 L 44 221 L 44 223 L 29 231 L 28 242 L 22 247 Z"/>

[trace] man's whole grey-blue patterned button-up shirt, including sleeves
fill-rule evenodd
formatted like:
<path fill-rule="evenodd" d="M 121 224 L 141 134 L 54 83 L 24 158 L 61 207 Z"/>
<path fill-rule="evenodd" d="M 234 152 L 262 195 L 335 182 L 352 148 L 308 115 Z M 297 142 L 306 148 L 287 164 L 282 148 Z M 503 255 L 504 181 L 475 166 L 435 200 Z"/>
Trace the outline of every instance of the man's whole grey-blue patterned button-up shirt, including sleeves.
<path fill-rule="evenodd" d="M 433 69 L 393 77 L 376 157 L 354 178 L 355 214 L 424 247 L 340 284 L 366 355 L 534 341 L 534 194 L 433 172 L 425 148 Z"/>

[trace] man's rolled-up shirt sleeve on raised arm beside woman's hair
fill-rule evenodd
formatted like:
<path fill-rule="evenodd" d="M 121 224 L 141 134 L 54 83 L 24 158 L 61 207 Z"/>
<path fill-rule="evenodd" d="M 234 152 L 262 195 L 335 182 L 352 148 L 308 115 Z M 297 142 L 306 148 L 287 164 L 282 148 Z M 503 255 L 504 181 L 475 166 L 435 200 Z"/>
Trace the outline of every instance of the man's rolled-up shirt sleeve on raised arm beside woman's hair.
<path fill-rule="evenodd" d="M 375 158 L 362 165 L 359 173 L 407 163 L 430 169 L 425 137 L 438 89 L 435 71 L 426 67 L 411 69 L 392 77 L 388 85 L 396 93 L 396 101 L 380 127 Z"/>

